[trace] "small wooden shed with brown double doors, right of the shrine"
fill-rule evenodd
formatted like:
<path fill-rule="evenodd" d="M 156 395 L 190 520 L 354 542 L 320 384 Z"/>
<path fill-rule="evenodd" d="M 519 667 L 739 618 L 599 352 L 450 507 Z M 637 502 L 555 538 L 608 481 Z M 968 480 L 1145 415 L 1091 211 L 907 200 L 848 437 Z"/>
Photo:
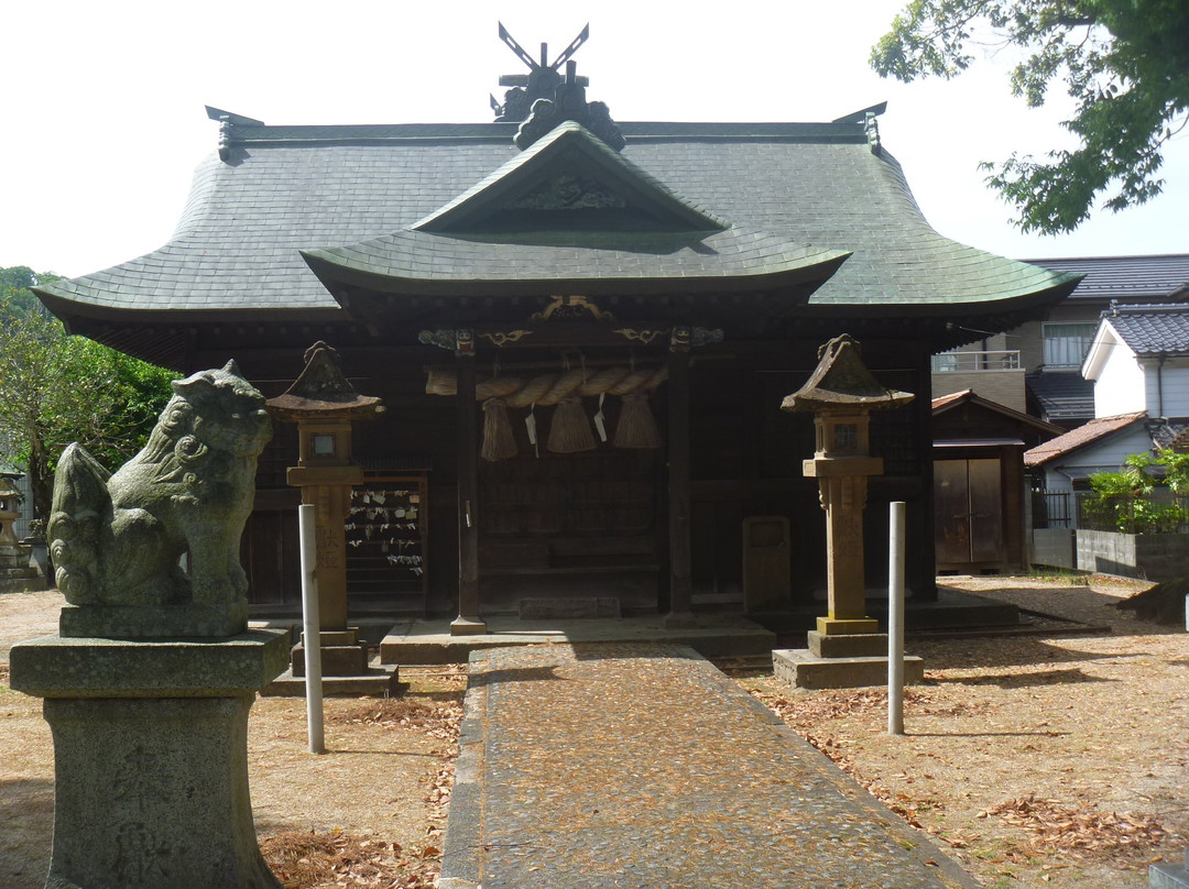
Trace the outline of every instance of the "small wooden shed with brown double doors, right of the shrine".
<path fill-rule="evenodd" d="M 1012 572 L 1027 566 L 1024 452 L 1061 431 L 970 390 L 933 399 L 938 572 Z"/>

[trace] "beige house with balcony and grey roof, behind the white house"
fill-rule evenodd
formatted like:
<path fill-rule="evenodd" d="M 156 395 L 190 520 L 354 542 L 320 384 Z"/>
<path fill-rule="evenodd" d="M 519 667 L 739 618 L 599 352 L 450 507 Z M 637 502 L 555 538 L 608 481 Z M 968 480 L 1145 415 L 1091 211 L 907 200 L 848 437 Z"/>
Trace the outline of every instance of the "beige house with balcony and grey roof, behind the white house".
<path fill-rule="evenodd" d="M 935 355 L 933 395 L 971 389 L 984 398 L 1072 429 L 1096 415 L 1094 384 L 1083 379 L 1080 371 L 1097 330 L 1099 316 L 1112 301 L 1153 303 L 1185 298 L 1189 253 L 1027 261 L 1084 277 L 1044 321 L 988 334 L 969 346 Z"/>

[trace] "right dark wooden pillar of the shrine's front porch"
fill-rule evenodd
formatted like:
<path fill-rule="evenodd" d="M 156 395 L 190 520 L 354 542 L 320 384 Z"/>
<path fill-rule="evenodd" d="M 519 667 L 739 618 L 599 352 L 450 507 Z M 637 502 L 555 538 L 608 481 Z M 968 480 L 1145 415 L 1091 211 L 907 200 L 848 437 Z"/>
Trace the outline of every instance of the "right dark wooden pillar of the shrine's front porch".
<path fill-rule="evenodd" d="M 684 628 L 697 625 L 691 606 L 690 353 L 673 348 L 668 372 L 669 613 L 665 626 Z"/>

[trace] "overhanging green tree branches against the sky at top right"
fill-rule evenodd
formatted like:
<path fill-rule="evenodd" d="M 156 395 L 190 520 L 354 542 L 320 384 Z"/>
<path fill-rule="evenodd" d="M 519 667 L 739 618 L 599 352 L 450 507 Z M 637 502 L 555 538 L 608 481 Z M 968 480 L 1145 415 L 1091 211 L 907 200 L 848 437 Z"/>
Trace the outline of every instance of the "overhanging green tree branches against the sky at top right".
<path fill-rule="evenodd" d="M 1189 2 L 911 0 L 870 61 L 906 83 L 951 78 L 979 44 L 1025 51 L 1011 88 L 1030 106 L 1044 105 L 1053 82 L 1075 102 L 1064 126 L 1080 147 L 983 164 L 1021 229 L 1069 232 L 1100 195 L 1118 212 L 1160 193 L 1164 145 L 1189 122 Z"/>

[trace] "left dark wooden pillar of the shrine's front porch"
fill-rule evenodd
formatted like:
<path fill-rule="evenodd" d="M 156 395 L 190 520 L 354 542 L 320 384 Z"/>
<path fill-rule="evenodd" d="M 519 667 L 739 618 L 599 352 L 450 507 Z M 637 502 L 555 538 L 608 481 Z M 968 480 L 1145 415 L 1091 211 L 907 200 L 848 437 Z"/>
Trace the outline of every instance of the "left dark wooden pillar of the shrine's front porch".
<path fill-rule="evenodd" d="M 458 617 L 452 636 L 485 633 L 479 619 L 479 423 L 474 408 L 474 354 L 458 355 Z"/>

